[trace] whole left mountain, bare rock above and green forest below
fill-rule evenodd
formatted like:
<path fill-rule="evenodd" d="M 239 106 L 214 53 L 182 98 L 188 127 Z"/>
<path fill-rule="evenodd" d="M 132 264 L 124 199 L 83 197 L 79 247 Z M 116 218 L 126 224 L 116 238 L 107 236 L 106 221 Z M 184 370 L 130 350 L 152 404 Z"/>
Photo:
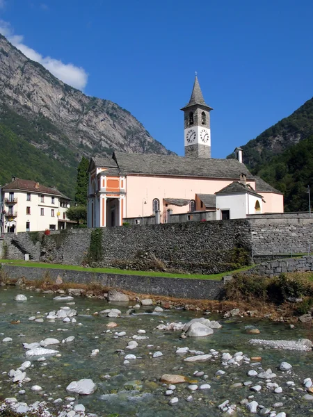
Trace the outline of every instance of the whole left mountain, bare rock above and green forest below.
<path fill-rule="evenodd" d="M 56 79 L 0 34 L 0 182 L 14 174 L 72 197 L 81 156 L 113 149 L 172 153 L 125 108 Z"/>

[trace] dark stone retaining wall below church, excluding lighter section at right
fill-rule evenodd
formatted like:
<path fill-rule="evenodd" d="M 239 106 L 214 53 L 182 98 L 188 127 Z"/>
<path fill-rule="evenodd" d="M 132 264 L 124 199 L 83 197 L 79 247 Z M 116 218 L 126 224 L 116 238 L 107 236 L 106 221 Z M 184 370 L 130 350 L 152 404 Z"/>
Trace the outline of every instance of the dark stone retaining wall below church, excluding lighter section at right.
<path fill-rule="evenodd" d="M 91 230 L 71 229 L 43 235 L 40 259 L 50 263 L 86 264 Z M 107 227 L 100 233 L 103 258 L 98 265 L 102 267 L 149 270 L 159 263 L 159 270 L 218 273 L 236 268 L 238 248 L 250 261 L 247 220 Z M 19 259 L 24 259 L 24 254 Z"/>

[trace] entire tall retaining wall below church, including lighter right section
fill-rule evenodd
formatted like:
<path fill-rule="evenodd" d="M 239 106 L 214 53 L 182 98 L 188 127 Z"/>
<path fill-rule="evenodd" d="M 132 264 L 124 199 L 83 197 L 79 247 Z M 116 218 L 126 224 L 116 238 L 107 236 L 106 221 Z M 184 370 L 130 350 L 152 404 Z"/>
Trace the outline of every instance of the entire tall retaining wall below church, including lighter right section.
<path fill-rule="evenodd" d="M 92 229 L 54 231 L 31 242 L 29 234 L 18 234 L 24 245 L 41 261 L 86 265 Z M 101 229 L 102 267 L 135 270 L 180 270 L 218 273 L 236 269 L 246 261 L 307 254 L 313 248 L 313 218 L 302 216 L 259 217 L 212 222 L 151 224 Z M 24 254 L 5 234 L 8 258 Z M 241 259 L 239 259 L 241 257 Z"/>

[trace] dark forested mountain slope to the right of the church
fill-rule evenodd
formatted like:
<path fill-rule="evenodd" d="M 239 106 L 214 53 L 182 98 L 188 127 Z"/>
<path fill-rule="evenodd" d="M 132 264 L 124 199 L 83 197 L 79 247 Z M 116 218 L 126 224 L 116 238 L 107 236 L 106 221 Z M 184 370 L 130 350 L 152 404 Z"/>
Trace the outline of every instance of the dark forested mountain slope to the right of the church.
<path fill-rule="evenodd" d="M 307 186 L 313 191 L 313 98 L 242 149 L 243 162 L 252 174 L 284 193 L 284 211 L 309 210 Z M 234 154 L 227 158 L 234 158 Z"/>

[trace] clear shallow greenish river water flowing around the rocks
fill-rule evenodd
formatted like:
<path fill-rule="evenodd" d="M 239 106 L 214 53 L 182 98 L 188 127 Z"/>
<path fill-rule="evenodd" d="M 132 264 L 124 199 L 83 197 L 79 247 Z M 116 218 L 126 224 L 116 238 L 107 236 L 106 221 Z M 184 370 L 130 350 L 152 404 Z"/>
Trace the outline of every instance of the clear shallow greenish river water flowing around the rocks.
<path fill-rule="evenodd" d="M 18 293 L 24 293 L 27 302 L 15 302 L 13 299 Z M 31 297 L 32 296 L 32 297 Z M 111 319 L 103 316 L 93 316 L 92 313 L 106 308 L 116 307 L 125 313 L 128 305 L 108 304 L 103 300 L 76 297 L 74 309 L 77 309 L 77 323 L 33 322 L 30 316 L 44 316 L 45 313 L 57 310 L 65 305 L 63 302 L 52 300 L 54 295 L 31 293 L 21 291 L 15 287 L 0 287 L 0 341 L 4 337 L 13 338 L 13 342 L 0 343 L 0 398 L 16 397 L 19 401 L 31 403 L 40 399 L 38 393 L 33 393 L 30 388 L 34 384 L 42 386 L 47 398 L 65 398 L 66 386 L 74 380 L 91 378 L 97 384 L 97 391 L 93 395 L 79 397 L 79 402 L 84 404 L 86 411 L 97 413 L 99 416 L 116 413 L 119 416 L 139 417 L 172 417 L 175 416 L 221 416 L 217 405 L 224 400 L 230 400 L 232 404 L 239 405 L 240 400 L 248 395 L 255 395 L 254 400 L 266 407 L 275 402 L 283 402 L 287 416 L 313 416 L 313 402 L 302 399 L 304 391 L 299 391 L 305 377 L 313 377 L 312 352 L 289 352 L 273 349 L 262 349 L 249 345 L 251 337 L 268 339 L 296 340 L 297 338 L 312 339 L 312 330 L 303 327 L 289 329 L 282 323 L 273 323 L 266 320 L 236 319 L 223 320 L 218 316 L 209 316 L 211 319 L 220 320 L 222 329 L 215 330 L 214 335 L 206 338 L 180 338 L 180 332 L 162 332 L 154 328 L 159 320 L 164 322 L 187 322 L 191 318 L 201 317 L 201 313 L 182 310 L 163 311 L 162 313 L 150 313 L 152 309 L 140 309 L 141 314 L 122 316 Z M 3 304 L 6 303 L 6 304 Z M 40 313 L 39 313 L 40 312 Z M 143 313 L 145 312 L 145 313 Z M 18 325 L 11 324 L 13 320 L 20 320 Z M 111 334 L 105 333 L 106 324 L 109 321 L 118 323 L 118 327 L 112 329 Z M 81 326 L 78 323 L 82 323 Z M 256 326 L 260 330 L 257 336 L 246 334 L 246 327 Z M 58 329 L 67 329 L 63 332 Z M 145 329 L 145 336 L 149 339 L 138 341 L 138 347 L 134 350 L 125 350 L 131 336 L 138 329 Z M 118 339 L 113 338 L 115 331 L 125 331 L 127 336 Z M 24 337 L 19 336 L 24 334 Z M 4 371 L 16 369 L 26 360 L 22 343 L 39 342 L 43 338 L 54 337 L 62 340 L 68 336 L 75 336 L 73 343 L 67 343 L 56 347 L 62 354 L 61 357 L 47 358 L 47 366 L 42 362 L 33 360 L 33 368 L 26 370 L 31 382 L 25 383 L 22 389 L 25 395 L 19 395 L 21 389 L 12 383 Z M 147 347 L 153 345 L 153 347 Z M 265 388 L 260 393 L 252 393 L 248 387 L 231 389 L 235 382 L 252 380 L 257 384 L 259 379 L 248 377 L 246 373 L 251 366 L 243 364 L 241 367 L 229 367 L 223 377 L 215 377 L 218 369 L 224 369 L 220 365 L 220 359 L 202 363 L 186 363 L 186 355 L 175 354 L 177 347 L 188 346 L 189 349 L 202 350 L 208 353 L 211 348 L 218 351 L 229 350 L 231 354 L 238 351 L 250 356 L 262 357 L 262 368 L 271 368 L 278 377 L 273 380 L 282 386 L 282 394 L 274 394 Z M 99 354 L 91 358 L 90 352 L 99 349 Z M 123 349 L 126 354 L 135 354 L 137 359 L 124 365 L 124 357 L 115 350 Z M 161 350 L 163 357 L 152 358 L 150 352 Z M 189 355 L 190 356 L 190 355 Z M 292 373 L 287 375 L 277 370 L 280 362 L 287 361 L 293 366 Z M 208 379 L 193 376 L 195 370 L 203 370 Z M 179 398 L 178 404 L 170 406 L 169 397 L 164 395 L 166 387 L 160 382 L 164 373 L 185 375 L 196 384 L 208 383 L 211 389 L 208 391 L 195 391 L 194 401 L 186 402 L 191 391 L 188 384 L 179 384 L 172 395 Z M 107 380 L 104 376 L 111 375 Z M 286 382 L 293 380 L 296 390 L 290 389 Z M 41 394 L 42 395 L 42 394 Z M 51 405 L 53 400 L 51 400 Z M 244 407 L 243 407 L 244 408 Z M 246 411 L 244 412 L 246 414 Z"/>

